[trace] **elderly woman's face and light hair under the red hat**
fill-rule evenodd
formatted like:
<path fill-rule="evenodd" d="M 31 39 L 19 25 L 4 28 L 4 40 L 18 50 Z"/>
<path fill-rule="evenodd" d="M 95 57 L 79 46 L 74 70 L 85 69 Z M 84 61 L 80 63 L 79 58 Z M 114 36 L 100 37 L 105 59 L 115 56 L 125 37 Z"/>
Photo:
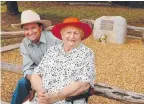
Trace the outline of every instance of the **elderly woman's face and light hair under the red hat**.
<path fill-rule="evenodd" d="M 64 46 L 67 47 L 77 47 L 81 42 L 82 36 L 82 30 L 74 26 L 67 26 L 61 30 L 61 37 Z"/>

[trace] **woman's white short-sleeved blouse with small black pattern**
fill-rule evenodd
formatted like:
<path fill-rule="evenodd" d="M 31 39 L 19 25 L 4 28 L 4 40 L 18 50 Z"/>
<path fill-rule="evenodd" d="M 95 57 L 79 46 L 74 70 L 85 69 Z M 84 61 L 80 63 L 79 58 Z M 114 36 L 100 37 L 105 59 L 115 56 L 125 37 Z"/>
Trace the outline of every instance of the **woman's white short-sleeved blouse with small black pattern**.
<path fill-rule="evenodd" d="M 93 51 L 82 43 L 70 52 L 65 52 L 62 46 L 60 44 L 50 47 L 38 67 L 34 69 L 34 73 L 42 76 L 43 87 L 46 91 L 57 92 L 73 81 L 89 82 L 94 87 L 95 62 Z M 79 101 L 79 104 L 86 104 L 84 99 Z M 71 103 L 63 100 L 54 104 Z"/>

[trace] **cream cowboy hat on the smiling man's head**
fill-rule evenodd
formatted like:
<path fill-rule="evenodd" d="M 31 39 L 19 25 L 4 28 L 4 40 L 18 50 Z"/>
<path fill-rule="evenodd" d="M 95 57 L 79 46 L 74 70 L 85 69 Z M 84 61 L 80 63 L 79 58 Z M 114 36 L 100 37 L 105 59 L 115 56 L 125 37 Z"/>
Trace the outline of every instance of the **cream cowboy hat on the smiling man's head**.
<path fill-rule="evenodd" d="M 49 20 L 41 20 L 40 16 L 36 12 L 32 10 L 25 10 L 21 14 L 21 23 L 11 24 L 11 26 L 20 29 L 22 25 L 27 23 L 41 23 L 44 25 L 44 28 L 47 28 L 52 24 Z"/>

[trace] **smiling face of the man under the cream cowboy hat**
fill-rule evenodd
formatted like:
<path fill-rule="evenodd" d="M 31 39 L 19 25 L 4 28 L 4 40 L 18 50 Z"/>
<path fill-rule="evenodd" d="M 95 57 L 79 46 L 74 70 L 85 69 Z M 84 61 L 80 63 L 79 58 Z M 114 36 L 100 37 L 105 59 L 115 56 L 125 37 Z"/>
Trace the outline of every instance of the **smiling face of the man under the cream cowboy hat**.
<path fill-rule="evenodd" d="M 27 37 L 29 40 L 31 40 L 34 43 L 38 43 L 41 32 L 42 32 L 42 27 L 39 27 L 37 23 L 29 23 L 23 25 L 24 29 L 24 35 Z"/>

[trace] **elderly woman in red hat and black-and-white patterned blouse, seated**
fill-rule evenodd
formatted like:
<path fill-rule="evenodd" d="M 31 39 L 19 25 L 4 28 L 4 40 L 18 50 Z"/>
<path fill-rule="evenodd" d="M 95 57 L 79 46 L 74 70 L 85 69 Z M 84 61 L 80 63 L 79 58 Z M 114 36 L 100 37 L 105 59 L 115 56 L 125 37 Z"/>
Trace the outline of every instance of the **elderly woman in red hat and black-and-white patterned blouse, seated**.
<path fill-rule="evenodd" d="M 36 96 L 33 104 L 71 104 L 65 99 L 94 87 L 94 53 L 82 44 L 92 29 L 77 18 L 67 18 L 56 24 L 52 33 L 62 44 L 47 50 L 44 58 L 31 76 Z M 87 104 L 85 99 L 74 104 Z"/>

